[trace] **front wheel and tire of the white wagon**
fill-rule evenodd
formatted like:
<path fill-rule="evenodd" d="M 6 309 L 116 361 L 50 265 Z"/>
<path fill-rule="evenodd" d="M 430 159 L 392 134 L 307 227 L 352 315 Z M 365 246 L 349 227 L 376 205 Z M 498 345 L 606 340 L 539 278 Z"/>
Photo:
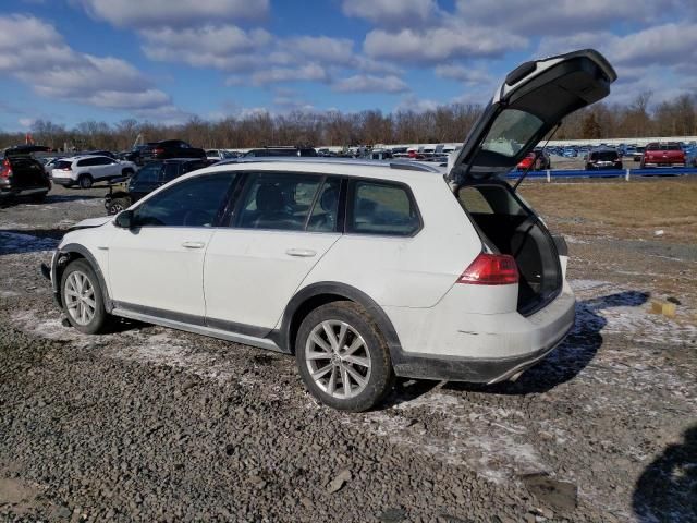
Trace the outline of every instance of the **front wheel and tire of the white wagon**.
<path fill-rule="evenodd" d="M 102 290 L 86 259 L 76 259 L 65 267 L 61 278 L 61 302 L 70 325 L 75 329 L 86 335 L 106 329 L 109 315 L 105 309 Z"/>

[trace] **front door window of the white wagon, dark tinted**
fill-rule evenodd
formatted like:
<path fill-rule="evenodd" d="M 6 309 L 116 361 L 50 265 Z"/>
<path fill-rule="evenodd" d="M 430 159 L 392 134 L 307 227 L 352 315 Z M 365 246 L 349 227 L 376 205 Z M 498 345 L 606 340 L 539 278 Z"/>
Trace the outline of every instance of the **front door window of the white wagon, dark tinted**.
<path fill-rule="evenodd" d="M 212 227 L 234 178 L 234 173 L 221 173 L 178 183 L 136 208 L 136 226 Z"/>

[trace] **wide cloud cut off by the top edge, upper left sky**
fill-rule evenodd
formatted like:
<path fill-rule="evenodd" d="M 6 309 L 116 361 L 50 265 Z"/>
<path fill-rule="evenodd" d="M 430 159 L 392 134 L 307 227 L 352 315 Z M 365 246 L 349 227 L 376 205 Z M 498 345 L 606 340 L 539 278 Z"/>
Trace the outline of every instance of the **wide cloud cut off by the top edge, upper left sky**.
<path fill-rule="evenodd" d="M 269 12 L 269 0 L 73 0 L 95 19 L 119 27 L 185 27 L 192 24 L 256 20 Z"/>

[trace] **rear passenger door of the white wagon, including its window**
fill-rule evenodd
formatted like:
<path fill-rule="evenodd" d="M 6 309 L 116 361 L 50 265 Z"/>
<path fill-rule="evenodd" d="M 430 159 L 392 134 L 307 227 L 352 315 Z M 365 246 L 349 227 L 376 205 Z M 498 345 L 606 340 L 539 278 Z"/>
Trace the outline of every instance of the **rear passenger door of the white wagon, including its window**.
<path fill-rule="evenodd" d="M 307 273 L 339 240 L 339 178 L 250 173 L 229 228 L 206 253 L 206 321 L 262 337 Z"/>

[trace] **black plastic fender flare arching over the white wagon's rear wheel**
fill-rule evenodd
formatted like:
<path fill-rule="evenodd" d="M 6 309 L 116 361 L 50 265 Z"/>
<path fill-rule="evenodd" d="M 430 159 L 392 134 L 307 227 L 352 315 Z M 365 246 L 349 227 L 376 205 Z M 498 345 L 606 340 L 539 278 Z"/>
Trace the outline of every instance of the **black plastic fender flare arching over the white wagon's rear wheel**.
<path fill-rule="evenodd" d="M 295 352 L 295 348 L 292 346 L 291 343 L 291 327 L 295 313 L 305 302 L 319 295 L 341 296 L 364 307 L 366 312 L 372 316 L 375 321 L 378 324 L 382 336 L 384 336 L 384 340 L 390 349 L 392 362 L 395 363 L 401 361 L 402 344 L 400 343 L 400 338 L 394 330 L 392 321 L 382 307 L 365 292 L 339 281 L 321 281 L 311 283 L 295 293 L 283 311 L 280 330 L 274 331 L 270 336 L 270 338 L 277 338 L 273 341 L 276 341 L 279 346 L 286 349 L 286 352 Z"/>

